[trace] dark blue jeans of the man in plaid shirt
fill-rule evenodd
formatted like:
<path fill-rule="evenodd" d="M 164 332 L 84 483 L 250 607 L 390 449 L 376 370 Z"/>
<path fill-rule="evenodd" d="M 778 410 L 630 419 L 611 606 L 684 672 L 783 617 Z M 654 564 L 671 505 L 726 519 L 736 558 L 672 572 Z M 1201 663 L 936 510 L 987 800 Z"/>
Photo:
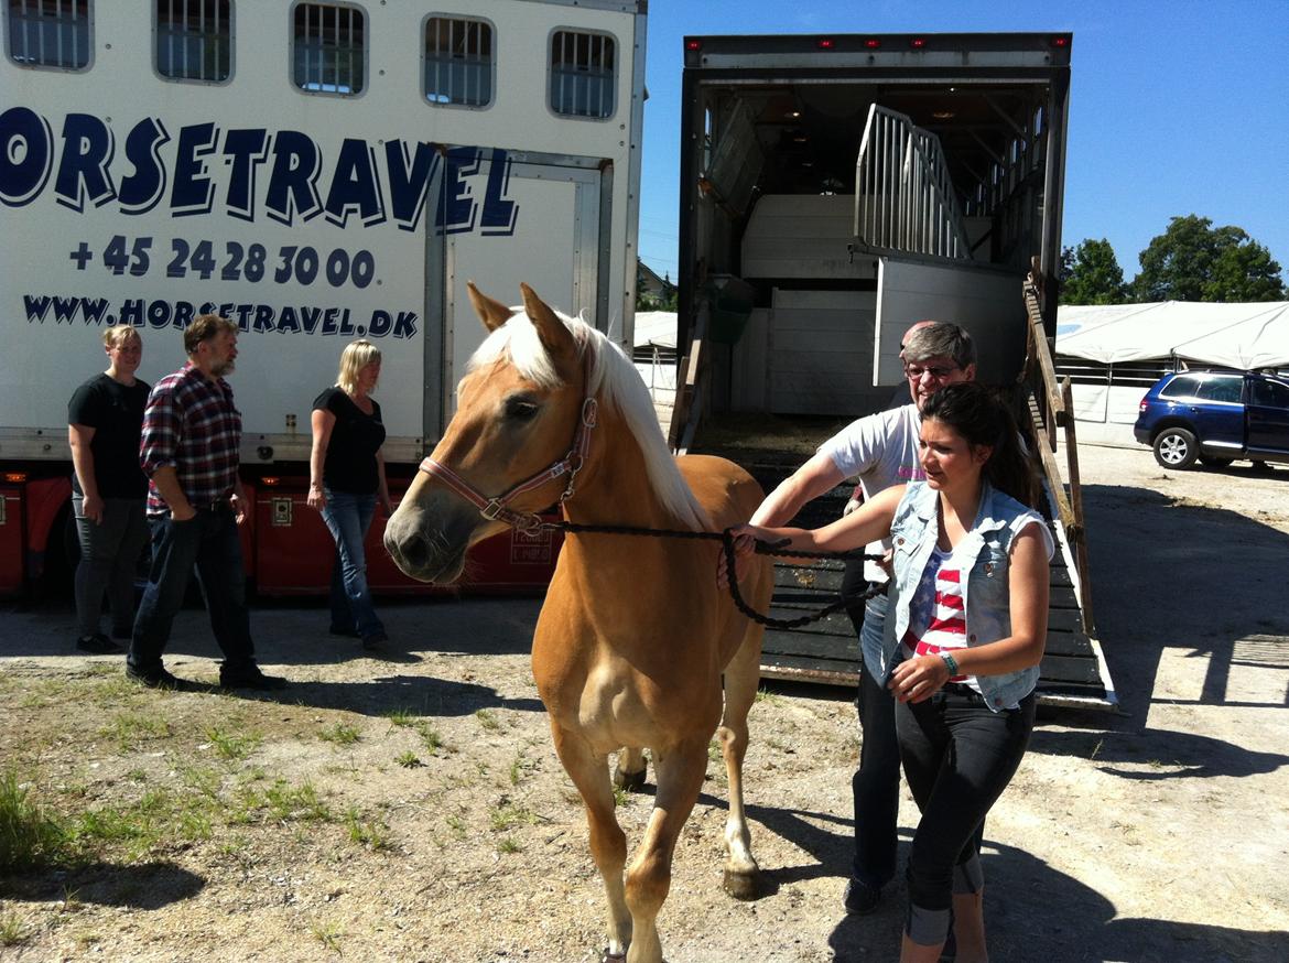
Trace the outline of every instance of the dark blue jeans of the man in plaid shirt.
<path fill-rule="evenodd" d="M 224 654 L 224 670 L 255 665 L 246 608 L 246 574 L 242 569 L 237 522 L 227 504 L 202 508 L 186 522 L 152 520 L 152 567 L 134 616 L 134 636 L 125 661 L 139 673 L 161 669 L 161 652 L 170 639 L 174 616 L 183 607 L 193 569 L 210 615 L 215 642 Z"/>

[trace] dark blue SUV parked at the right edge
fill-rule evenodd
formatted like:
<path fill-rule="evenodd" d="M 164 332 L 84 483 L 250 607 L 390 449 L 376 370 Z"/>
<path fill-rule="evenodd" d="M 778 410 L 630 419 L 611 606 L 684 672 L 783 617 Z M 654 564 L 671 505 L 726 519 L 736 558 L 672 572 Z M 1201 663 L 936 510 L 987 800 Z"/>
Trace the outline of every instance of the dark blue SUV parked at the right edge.
<path fill-rule="evenodd" d="M 1164 468 L 1289 463 L 1289 378 L 1255 371 L 1177 371 L 1141 400 L 1133 434 Z"/>

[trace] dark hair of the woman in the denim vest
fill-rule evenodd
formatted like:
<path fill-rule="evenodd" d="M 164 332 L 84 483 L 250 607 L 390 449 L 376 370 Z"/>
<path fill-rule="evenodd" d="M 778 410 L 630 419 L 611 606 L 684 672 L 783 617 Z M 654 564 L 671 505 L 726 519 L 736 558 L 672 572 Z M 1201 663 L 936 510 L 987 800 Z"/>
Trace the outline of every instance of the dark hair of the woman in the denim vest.
<path fill-rule="evenodd" d="M 989 445 L 993 451 L 984 468 L 989 483 L 1023 505 L 1039 507 L 1034 463 L 1021 447 L 1012 410 L 993 391 L 976 382 L 946 384 L 927 398 L 922 418 L 949 425 L 969 445 Z"/>

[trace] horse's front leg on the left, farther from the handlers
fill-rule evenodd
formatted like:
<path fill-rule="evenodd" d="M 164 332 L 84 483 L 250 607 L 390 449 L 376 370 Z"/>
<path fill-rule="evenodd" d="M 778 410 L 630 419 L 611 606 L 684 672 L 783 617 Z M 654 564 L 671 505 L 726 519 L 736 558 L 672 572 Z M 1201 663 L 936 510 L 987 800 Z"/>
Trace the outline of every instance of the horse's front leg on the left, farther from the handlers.
<path fill-rule="evenodd" d="M 610 957 L 623 957 L 632 942 L 632 914 L 626 909 L 623 866 L 626 865 L 626 835 L 614 813 L 614 789 L 608 781 L 608 757 L 592 752 L 577 734 L 550 721 L 556 753 L 586 806 L 590 855 L 605 880 L 608 902 Z"/>

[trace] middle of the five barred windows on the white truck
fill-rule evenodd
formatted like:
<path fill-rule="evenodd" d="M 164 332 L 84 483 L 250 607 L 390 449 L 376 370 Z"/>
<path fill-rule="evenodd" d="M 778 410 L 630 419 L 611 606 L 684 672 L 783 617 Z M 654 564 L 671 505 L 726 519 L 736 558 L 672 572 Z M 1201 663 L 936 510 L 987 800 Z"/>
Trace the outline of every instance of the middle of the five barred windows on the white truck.
<path fill-rule="evenodd" d="M 291 36 L 295 86 L 315 94 L 361 94 L 366 44 L 362 10 L 342 4 L 299 4 Z"/>

